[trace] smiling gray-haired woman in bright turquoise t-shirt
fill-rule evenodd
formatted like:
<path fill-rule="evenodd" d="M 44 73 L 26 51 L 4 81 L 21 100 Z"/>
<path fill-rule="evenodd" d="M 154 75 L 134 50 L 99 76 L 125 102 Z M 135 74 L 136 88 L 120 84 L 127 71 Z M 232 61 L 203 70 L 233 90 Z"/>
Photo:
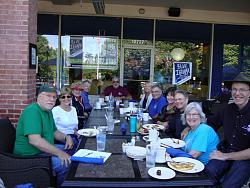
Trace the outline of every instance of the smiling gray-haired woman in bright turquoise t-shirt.
<path fill-rule="evenodd" d="M 186 145 L 182 149 L 207 164 L 210 153 L 216 150 L 219 143 L 216 132 L 205 123 L 205 114 L 197 102 L 188 104 L 181 118 L 183 124 L 187 124 L 190 128 L 184 137 Z"/>

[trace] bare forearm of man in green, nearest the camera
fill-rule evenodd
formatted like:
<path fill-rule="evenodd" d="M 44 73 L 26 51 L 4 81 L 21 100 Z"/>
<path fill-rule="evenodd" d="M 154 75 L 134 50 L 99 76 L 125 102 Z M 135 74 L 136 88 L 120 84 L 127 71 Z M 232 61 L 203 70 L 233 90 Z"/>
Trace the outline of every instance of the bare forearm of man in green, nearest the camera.
<path fill-rule="evenodd" d="M 40 134 L 30 134 L 28 135 L 28 139 L 29 144 L 31 144 L 32 146 L 38 148 L 43 152 L 58 156 L 62 163 L 66 166 L 70 164 L 70 156 L 64 151 L 56 148 L 54 145 L 48 143 L 44 138 L 41 137 Z"/>

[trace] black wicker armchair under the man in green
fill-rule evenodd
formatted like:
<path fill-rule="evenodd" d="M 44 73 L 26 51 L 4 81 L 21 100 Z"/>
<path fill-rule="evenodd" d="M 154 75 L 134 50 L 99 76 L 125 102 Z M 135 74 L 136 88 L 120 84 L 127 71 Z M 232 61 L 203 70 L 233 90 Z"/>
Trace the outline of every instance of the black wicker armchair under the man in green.
<path fill-rule="evenodd" d="M 51 157 L 23 157 L 12 154 L 15 128 L 8 119 L 0 119 L 0 177 L 6 187 L 31 183 L 34 187 L 55 186 Z"/>

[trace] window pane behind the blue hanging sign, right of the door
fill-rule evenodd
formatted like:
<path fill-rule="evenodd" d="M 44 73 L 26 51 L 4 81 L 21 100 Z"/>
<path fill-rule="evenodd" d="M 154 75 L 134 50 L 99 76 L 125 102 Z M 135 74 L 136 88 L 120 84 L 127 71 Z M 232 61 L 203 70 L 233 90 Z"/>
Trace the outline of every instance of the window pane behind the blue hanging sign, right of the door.
<path fill-rule="evenodd" d="M 181 48 L 185 51 L 181 62 L 192 63 L 191 80 L 178 85 L 178 89 L 188 91 L 191 99 L 208 96 L 209 45 L 207 43 L 157 41 L 155 50 L 154 82 L 162 85 L 165 91 L 172 86 L 173 58 L 171 51 Z"/>

